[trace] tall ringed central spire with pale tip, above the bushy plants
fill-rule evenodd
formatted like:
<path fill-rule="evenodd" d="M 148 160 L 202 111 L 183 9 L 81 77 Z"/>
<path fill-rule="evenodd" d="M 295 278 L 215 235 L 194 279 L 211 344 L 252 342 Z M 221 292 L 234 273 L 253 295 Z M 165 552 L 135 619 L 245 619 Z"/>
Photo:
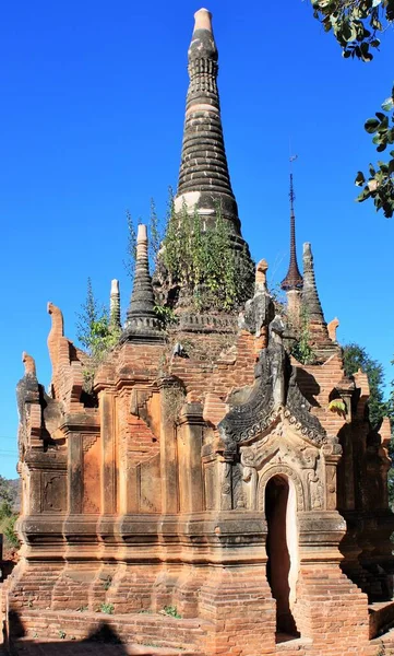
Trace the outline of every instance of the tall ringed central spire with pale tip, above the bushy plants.
<path fill-rule="evenodd" d="M 189 91 L 184 119 L 181 165 L 175 210 L 186 204 L 198 210 L 206 227 L 217 208 L 230 233 L 240 237 L 240 221 L 223 137 L 217 91 L 218 54 L 212 31 L 212 14 L 200 9 L 189 47 Z M 210 222 L 211 218 L 211 222 Z M 240 238 L 241 244 L 243 241 Z"/>

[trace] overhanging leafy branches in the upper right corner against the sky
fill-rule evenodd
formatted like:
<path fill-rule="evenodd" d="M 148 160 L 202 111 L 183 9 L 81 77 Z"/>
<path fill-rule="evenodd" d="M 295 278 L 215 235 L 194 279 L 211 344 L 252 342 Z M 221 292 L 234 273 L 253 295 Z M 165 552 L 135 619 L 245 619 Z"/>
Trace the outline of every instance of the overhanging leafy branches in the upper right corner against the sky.
<path fill-rule="evenodd" d="M 314 16 L 323 24 L 325 32 L 332 31 L 345 58 L 357 58 L 368 62 L 373 59 L 373 50 L 379 49 L 382 33 L 394 21 L 394 0 L 312 0 Z M 394 143 L 394 87 L 382 104 L 383 112 L 365 124 L 368 133 L 374 134 L 372 142 L 378 152 L 383 152 Z M 369 165 L 369 175 L 361 171 L 356 185 L 363 186 L 357 197 L 362 202 L 371 198 L 378 210 L 386 218 L 394 213 L 394 150 L 387 162 L 378 161 Z"/>

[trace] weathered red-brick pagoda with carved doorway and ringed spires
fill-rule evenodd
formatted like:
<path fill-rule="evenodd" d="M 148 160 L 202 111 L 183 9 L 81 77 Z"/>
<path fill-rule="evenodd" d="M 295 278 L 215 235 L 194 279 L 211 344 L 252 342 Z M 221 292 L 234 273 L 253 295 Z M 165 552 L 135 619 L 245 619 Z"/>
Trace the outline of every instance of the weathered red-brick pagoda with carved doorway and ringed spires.
<path fill-rule="evenodd" d="M 210 231 L 219 202 L 237 251 L 217 50 L 211 14 L 195 19 L 176 204 L 196 208 Z M 182 309 L 163 330 L 140 226 L 127 321 L 87 394 L 87 356 L 49 303 L 50 391 L 27 354 L 17 387 L 11 641 L 82 639 L 105 624 L 123 643 L 174 654 L 378 654 L 374 636 L 393 619 L 390 425 L 372 430 L 367 376 L 344 374 L 309 244 L 299 272 L 292 200 L 291 323 L 275 313 L 262 260 L 240 315 Z M 111 305 L 119 323 L 116 285 Z M 287 351 L 301 313 L 310 365 Z"/>

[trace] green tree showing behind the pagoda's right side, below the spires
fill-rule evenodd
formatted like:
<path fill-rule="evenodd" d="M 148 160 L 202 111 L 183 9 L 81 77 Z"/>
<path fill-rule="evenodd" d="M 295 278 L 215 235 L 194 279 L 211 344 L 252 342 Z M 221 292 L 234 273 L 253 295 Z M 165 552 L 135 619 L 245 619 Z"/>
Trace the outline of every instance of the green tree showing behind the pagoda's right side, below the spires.
<path fill-rule="evenodd" d="M 350 343 L 344 347 L 344 368 L 347 376 L 351 376 L 358 370 L 367 374 L 370 388 L 369 419 L 372 426 L 378 427 L 386 414 L 386 403 L 383 401 L 383 366 L 370 358 L 363 347 Z"/>

